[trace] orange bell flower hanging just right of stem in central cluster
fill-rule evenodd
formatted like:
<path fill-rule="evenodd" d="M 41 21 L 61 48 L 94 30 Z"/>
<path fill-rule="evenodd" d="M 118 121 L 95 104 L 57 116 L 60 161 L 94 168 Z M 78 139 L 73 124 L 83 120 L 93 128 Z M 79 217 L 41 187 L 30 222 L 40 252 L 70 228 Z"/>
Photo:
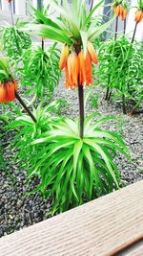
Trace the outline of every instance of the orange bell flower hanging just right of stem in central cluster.
<path fill-rule="evenodd" d="M 79 82 L 81 85 L 90 85 L 92 83 L 92 58 L 87 51 L 86 57 L 82 50 L 79 55 Z"/>

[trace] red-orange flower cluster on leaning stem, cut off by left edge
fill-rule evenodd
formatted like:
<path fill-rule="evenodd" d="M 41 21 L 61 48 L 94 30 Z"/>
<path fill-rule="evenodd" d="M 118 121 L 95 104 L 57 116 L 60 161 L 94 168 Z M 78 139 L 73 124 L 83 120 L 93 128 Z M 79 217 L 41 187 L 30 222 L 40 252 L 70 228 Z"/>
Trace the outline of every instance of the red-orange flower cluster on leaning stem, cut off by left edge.
<path fill-rule="evenodd" d="M 0 83 L 0 103 L 9 103 L 15 99 L 15 92 L 17 91 L 16 81 L 7 81 Z"/>

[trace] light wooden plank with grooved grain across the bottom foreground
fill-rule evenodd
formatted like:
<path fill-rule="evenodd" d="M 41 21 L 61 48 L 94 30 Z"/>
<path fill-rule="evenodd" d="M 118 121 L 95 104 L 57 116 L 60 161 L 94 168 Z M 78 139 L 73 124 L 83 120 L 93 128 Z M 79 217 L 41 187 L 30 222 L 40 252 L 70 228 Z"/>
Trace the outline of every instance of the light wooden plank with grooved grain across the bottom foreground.
<path fill-rule="evenodd" d="M 141 238 L 143 181 L 1 238 L 0 255 L 107 256 Z"/>

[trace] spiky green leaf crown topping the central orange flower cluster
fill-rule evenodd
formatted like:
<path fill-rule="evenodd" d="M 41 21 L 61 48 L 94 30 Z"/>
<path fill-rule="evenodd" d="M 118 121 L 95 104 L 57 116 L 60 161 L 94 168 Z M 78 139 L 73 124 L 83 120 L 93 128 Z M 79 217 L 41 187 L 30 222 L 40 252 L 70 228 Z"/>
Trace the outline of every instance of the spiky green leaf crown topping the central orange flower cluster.
<path fill-rule="evenodd" d="M 86 1 L 72 0 L 72 9 L 67 0 L 51 1 L 51 7 L 60 13 L 60 18 L 46 17 L 43 12 L 34 10 L 37 20 L 40 23 L 28 26 L 29 30 L 36 32 L 42 37 L 47 37 L 52 40 L 67 43 L 68 45 L 75 45 L 82 42 L 83 48 L 86 51 L 88 40 L 92 40 L 94 36 L 102 34 L 111 24 L 112 20 L 100 27 L 95 27 L 94 22 L 90 22 L 93 12 L 103 3 L 101 0 L 90 13 L 86 9 Z M 90 24 L 90 26 L 89 26 Z"/>

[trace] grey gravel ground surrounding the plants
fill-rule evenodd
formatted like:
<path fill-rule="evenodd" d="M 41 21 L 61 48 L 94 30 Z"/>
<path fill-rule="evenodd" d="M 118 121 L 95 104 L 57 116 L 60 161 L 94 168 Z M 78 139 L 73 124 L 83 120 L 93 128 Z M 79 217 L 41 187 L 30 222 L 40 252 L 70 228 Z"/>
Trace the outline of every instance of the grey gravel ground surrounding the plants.
<path fill-rule="evenodd" d="M 61 79 L 54 98 L 64 98 L 69 103 L 61 109 L 62 115 L 75 117 L 78 114 L 77 91 L 65 90 L 63 83 L 64 81 Z M 96 95 L 100 91 L 102 91 L 100 86 L 94 87 L 92 94 Z M 128 185 L 141 180 L 143 178 L 143 114 L 135 115 L 132 118 L 123 115 L 120 102 L 117 104 L 105 102 L 103 92 L 101 92 L 97 109 L 91 109 L 90 105 L 87 105 L 86 112 L 89 114 L 92 111 L 98 111 L 102 113 L 102 116 L 123 117 L 122 126 L 116 122 L 107 122 L 103 128 L 120 132 L 126 144 L 133 151 L 132 157 L 135 166 L 131 165 L 122 155 L 116 159 L 123 183 Z M 51 207 L 51 200 L 42 198 L 38 193 L 26 196 L 28 189 L 26 171 L 19 172 L 20 163 L 12 163 L 12 150 L 8 149 L 12 136 L 14 136 L 13 132 L 7 134 L 5 140 L 2 141 L 4 158 L 8 164 L 6 170 L 0 170 L 0 237 L 35 222 L 48 219 L 46 213 Z M 38 180 L 33 179 L 31 189 L 37 182 Z"/>

